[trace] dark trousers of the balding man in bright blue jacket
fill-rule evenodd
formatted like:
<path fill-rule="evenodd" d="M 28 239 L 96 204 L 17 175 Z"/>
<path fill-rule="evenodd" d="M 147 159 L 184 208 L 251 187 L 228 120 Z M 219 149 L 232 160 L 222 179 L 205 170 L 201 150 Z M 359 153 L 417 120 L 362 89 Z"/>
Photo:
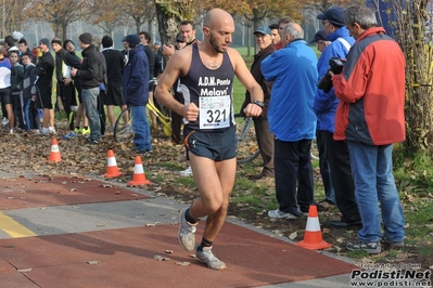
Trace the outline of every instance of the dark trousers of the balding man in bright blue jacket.
<path fill-rule="evenodd" d="M 310 148 L 311 140 L 285 142 L 275 139 L 276 194 L 282 212 L 300 214 L 296 186 L 297 204 L 303 212 L 308 212 L 314 202 Z"/>

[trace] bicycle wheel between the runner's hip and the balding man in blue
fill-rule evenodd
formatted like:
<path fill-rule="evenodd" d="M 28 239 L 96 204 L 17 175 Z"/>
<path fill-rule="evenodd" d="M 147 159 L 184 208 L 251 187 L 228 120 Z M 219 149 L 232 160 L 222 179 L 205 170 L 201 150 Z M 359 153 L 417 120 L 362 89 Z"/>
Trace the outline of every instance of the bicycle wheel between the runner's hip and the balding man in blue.
<path fill-rule="evenodd" d="M 234 115 L 237 121 L 238 163 L 246 163 L 257 158 L 259 149 L 252 118 Z"/>

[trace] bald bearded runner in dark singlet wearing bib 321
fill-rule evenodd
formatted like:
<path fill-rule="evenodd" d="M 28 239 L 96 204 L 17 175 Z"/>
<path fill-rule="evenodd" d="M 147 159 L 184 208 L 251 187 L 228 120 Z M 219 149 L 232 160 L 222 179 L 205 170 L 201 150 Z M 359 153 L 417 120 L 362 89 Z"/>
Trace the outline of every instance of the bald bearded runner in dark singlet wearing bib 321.
<path fill-rule="evenodd" d="M 207 215 L 195 257 L 214 270 L 227 269 L 212 247 L 226 221 L 235 176 L 234 75 L 252 95 L 252 103 L 244 109 L 246 116 L 259 116 L 264 99 L 239 52 L 229 48 L 233 32 L 231 15 L 220 9 L 211 10 L 204 18 L 203 42 L 171 56 L 155 91 L 163 105 L 183 117 L 187 157 L 200 192 L 200 197 L 180 211 L 179 243 L 184 250 L 193 251 L 199 219 Z M 178 78 L 184 104 L 169 93 Z"/>

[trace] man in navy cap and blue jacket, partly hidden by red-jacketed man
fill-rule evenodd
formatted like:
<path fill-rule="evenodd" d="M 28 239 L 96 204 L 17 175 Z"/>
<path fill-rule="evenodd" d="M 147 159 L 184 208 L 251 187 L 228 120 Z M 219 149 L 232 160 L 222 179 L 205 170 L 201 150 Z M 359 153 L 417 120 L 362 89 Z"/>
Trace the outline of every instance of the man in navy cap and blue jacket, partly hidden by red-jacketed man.
<path fill-rule="evenodd" d="M 319 14 L 317 18 L 322 21 L 324 34 L 328 40 L 332 42 L 323 50 L 318 61 L 319 80 L 328 73 L 331 57 L 346 58 L 355 39 L 349 36 L 348 29 L 345 27 L 344 9 L 332 6 L 323 14 Z M 333 88 L 328 93 L 320 89 L 316 90 L 314 109 L 317 115 L 317 129 L 324 141 L 336 207 L 342 213 L 340 220 L 331 221 L 329 224 L 346 227 L 359 225 L 360 215 L 355 201 L 355 186 L 352 179 L 347 144 L 345 141 L 333 140 L 334 118 L 339 102 Z"/>

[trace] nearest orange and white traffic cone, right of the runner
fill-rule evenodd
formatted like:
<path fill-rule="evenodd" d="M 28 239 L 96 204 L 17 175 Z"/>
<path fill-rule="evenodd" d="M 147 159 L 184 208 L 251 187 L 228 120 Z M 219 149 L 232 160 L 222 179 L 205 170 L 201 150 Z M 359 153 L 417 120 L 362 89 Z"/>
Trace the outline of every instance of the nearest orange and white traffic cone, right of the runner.
<path fill-rule="evenodd" d="M 326 249 L 331 247 L 329 243 L 321 237 L 319 217 L 317 215 L 317 206 L 310 205 L 308 210 L 307 227 L 305 228 L 304 240 L 295 244 L 309 250 Z"/>

